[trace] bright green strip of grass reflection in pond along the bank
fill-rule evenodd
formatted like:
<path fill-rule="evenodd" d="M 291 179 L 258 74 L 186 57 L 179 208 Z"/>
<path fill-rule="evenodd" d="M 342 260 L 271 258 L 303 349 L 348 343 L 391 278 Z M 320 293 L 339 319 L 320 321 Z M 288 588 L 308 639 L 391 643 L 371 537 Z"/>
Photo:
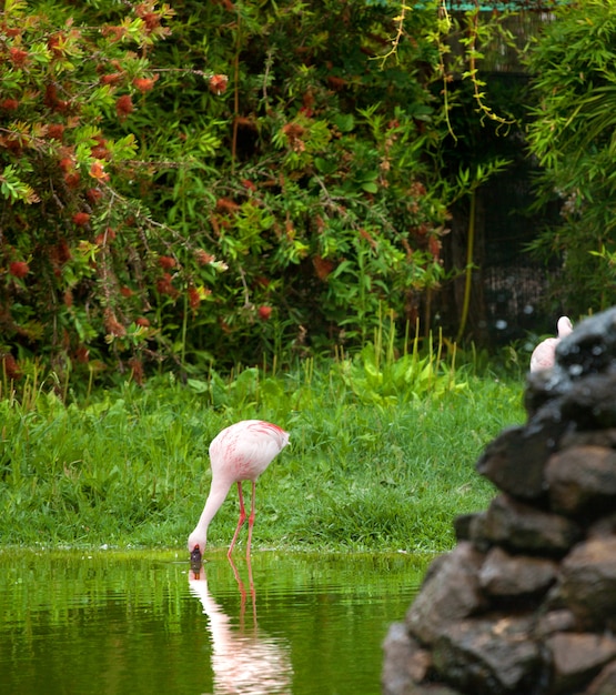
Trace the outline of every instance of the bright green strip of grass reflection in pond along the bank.
<path fill-rule="evenodd" d="M 380 601 L 388 587 L 407 592 L 418 586 L 430 558 L 398 553 L 256 552 L 251 565 L 261 601 L 293 600 L 295 592 L 314 590 L 370 602 L 372 596 Z M 244 558 L 238 558 L 236 565 L 248 586 Z M 180 551 L 7 548 L 0 551 L 0 614 L 4 625 L 39 611 L 51 624 L 62 624 L 80 607 L 95 610 L 118 602 L 127 612 L 145 606 L 155 615 L 173 616 L 176 608 L 190 607 L 181 605 L 188 570 L 188 556 Z M 204 572 L 216 600 L 235 611 L 240 593 L 226 554 L 211 553 Z"/>

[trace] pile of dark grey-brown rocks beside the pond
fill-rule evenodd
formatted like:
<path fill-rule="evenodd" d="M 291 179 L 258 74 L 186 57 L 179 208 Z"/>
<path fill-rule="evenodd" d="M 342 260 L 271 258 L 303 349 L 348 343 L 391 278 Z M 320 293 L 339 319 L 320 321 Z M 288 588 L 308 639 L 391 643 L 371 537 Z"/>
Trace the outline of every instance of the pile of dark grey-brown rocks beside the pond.
<path fill-rule="evenodd" d="M 528 377 L 527 421 L 476 466 L 458 517 L 384 644 L 384 695 L 616 695 L 616 308 Z"/>

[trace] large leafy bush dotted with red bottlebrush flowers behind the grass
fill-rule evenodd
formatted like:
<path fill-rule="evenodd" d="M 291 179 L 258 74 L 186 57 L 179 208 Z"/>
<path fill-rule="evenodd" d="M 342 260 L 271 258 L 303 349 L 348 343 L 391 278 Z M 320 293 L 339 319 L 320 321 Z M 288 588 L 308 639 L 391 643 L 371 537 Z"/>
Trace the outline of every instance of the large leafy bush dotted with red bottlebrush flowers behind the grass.
<path fill-rule="evenodd" d="M 441 177 L 443 20 L 397 13 L 8 0 L 4 372 L 139 381 L 361 345 L 383 312 L 414 326 L 481 177 Z"/>

